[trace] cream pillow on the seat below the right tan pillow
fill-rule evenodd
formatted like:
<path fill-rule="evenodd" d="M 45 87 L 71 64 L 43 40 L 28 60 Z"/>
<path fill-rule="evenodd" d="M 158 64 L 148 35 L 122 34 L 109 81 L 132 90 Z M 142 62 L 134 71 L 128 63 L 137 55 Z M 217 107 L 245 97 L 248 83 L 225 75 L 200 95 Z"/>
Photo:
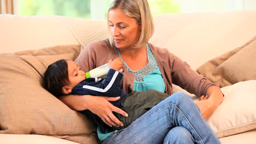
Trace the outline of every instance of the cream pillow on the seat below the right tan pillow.
<path fill-rule="evenodd" d="M 207 121 L 216 135 L 220 138 L 256 129 L 256 80 L 221 89 L 224 100 Z"/>

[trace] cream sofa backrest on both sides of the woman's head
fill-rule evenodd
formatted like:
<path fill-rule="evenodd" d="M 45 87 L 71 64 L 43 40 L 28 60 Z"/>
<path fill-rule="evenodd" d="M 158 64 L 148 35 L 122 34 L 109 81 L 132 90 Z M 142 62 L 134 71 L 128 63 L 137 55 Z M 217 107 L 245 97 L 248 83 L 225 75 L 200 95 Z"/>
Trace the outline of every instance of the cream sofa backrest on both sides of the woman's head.
<path fill-rule="evenodd" d="M 149 40 L 187 61 L 193 69 L 256 35 L 256 11 L 153 15 Z M 0 52 L 81 44 L 107 38 L 105 20 L 67 16 L 0 15 Z"/>

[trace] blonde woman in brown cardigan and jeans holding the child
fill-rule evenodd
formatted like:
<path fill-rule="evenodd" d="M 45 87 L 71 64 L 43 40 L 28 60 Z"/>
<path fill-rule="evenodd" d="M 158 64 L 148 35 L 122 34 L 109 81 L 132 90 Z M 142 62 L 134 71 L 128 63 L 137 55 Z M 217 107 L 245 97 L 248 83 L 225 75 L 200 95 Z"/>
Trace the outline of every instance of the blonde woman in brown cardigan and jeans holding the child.
<path fill-rule="evenodd" d="M 197 107 L 188 95 L 175 93 L 125 129 L 98 130 L 100 140 L 103 143 L 220 143 L 205 119 L 222 103 L 222 92 L 167 49 L 148 44 L 154 25 L 147 1 L 114 0 L 108 10 L 108 25 L 109 39 L 92 41 L 75 60 L 84 71 L 120 57 L 125 65 L 121 88 L 126 93 L 155 89 L 171 95 L 174 83 L 199 97 L 207 95 L 208 99 L 197 101 Z M 113 111 L 127 116 L 109 103 L 118 99 L 91 95 L 61 97 L 71 109 L 88 109 L 110 127 L 123 125 Z"/>

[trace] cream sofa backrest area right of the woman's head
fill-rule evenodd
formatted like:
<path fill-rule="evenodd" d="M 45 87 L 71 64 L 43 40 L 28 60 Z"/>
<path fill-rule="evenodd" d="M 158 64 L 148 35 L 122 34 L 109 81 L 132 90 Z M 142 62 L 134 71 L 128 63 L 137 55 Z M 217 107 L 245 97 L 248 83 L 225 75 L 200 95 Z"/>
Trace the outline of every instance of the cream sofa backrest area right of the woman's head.
<path fill-rule="evenodd" d="M 193 69 L 256 36 L 256 11 L 154 16 L 150 42 L 168 49 Z"/>

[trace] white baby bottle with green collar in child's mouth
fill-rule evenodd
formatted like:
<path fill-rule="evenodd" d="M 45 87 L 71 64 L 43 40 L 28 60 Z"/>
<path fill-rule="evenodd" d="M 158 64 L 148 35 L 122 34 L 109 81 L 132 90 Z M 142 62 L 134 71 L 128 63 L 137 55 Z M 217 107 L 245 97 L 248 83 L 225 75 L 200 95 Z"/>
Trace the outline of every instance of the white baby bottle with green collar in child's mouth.
<path fill-rule="evenodd" d="M 85 77 L 90 78 L 90 77 L 99 77 L 101 79 L 106 78 L 106 76 L 108 75 L 108 71 L 109 71 L 109 64 L 103 64 L 100 67 L 97 67 L 95 69 L 92 69 L 88 72 L 85 73 Z M 122 73 L 123 69 L 119 70 L 119 73 Z"/>

